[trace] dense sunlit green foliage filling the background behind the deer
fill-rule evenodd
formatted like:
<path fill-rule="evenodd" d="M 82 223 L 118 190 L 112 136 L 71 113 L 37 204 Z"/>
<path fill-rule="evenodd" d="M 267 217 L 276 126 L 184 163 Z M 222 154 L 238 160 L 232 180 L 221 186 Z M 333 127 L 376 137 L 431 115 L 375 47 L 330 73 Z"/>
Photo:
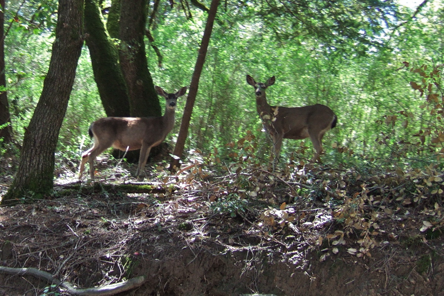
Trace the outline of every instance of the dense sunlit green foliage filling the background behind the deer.
<path fill-rule="evenodd" d="M 17 11 L 19 3 L 7 5 L 5 19 L 11 22 L 5 39 L 7 90 L 14 137 L 20 143 L 48 69 L 55 15 L 47 13 L 42 26 L 34 28 L 25 22 L 27 11 L 31 13 L 37 5 L 34 1 L 25 3 L 20 10 L 23 19 L 17 22 L 11 13 Z M 189 85 L 206 13 L 191 10 L 190 18 L 179 5 L 161 5 L 165 5 L 161 8 L 162 17 L 157 19 L 152 34 L 154 45 L 163 56 L 162 65 L 159 67 L 148 41 L 147 59 L 155 84 L 173 91 Z M 253 89 L 247 85 L 245 75 L 261 82 L 275 75 L 276 84 L 267 90 L 270 105 L 296 107 L 320 103 L 337 114 L 337 127 L 324 138 L 324 162 L 391 166 L 437 162 L 442 143 L 428 149 L 418 149 L 417 143 L 421 143 L 420 135 L 427 128 L 431 132 L 426 134 L 422 146 L 431 144 L 434 135 L 443 132 L 439 112 L 443 109 L 436 109 L 435 104 L 433 111 L 426 104 L 427 93 L 420 96 L 412 88 L 410 81 L 421 83 L 424 77 L 410 69 L 427 65 L 424 72 L 428 73 L 433 66 L 444 63 L 443 7 L 443 0 L 429 2 L 413 19 L 409 19 L 413 11 L 401 7 L 408 22 L 397 20 L 397 24 L 403 23 L 397 29 L 382 26 L 376 32 L 377 38 L 372 37 L 379 46 L 348 41 L 335 50 L 331 45 L 344 40 L 334 40 L 333 36 L 331 43 L 326 43 L 314 34 L 292 35 L 288 29 L 291 24 L 283 23 L 281 18 L 267 23 L 253 17 L 258 7 L 246 5 L 236 9 L 222 5 L 200 79 L 187 148 L 210 153 L 216 147 L 225 155 L 225 145 L 236 142 L 250 130 L 258 137 L 256 153 L 266 158 L 271 145 L 260 131 Z M 283 34 L 270 30 L 273 26 Z M 442 104 L 439 83 L 433 85 L 433 92 L 440 95 Z M 167 138 L 171 143 L 179 130 L 185 98 L 178 105 L 176 128 Z M 105 113 L 88 49 L 84 47 L 56 158 L 76 162 L 85 146 L 90 145 L 90 122 L 102 116 Z M 311 147 L 310 141 L 305 144 Z M 298 147 L 298 141 L 285 140 L 281 156 L 288 158 Z M 310 158 L 311 152 L 308 154 L 305 157 Z"/>

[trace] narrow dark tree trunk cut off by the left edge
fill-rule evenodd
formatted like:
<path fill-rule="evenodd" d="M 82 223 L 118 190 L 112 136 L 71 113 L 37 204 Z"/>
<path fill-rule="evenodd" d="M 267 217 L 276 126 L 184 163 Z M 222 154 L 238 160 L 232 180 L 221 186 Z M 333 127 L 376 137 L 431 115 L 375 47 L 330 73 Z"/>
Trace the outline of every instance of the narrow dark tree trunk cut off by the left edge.
<path fill-rule="evenodd" d="M 4 68 L 4 0 L 0 0 L 0 86 L 6 87 Z M 7 124 L 1 128 L 2 125 Z M 9 143 L 12 139 L 11 115 L 9 114 L 8 98 L 6 91 L 0 91 L 0 139 L 3 143 Z"/>

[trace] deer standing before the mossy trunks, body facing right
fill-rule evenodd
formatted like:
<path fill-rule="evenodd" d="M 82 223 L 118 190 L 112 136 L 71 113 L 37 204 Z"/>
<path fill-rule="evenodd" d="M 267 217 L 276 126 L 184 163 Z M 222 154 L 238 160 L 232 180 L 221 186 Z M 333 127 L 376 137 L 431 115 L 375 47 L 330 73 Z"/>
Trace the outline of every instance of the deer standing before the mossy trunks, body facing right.
<path fill-rule="evenodd" d="M 122 151 L 140 149 L 136 177 L 144 172 L 151 148 L 162 143 L 175 123 L 177 99 L 186 93 L 186 86 L 176 93 L 166 93 L 154 86 L 156 93 L 166 99 L 165 113 L 160 117 L 104 117 L 89 127 L 89 136 L 94 138 L 92 148 L 82 153 L 78 178 L 81 179 L 85 163 L 89 162 L 89 175 L 94 180 L 94 160 L 112 147 Z"/>

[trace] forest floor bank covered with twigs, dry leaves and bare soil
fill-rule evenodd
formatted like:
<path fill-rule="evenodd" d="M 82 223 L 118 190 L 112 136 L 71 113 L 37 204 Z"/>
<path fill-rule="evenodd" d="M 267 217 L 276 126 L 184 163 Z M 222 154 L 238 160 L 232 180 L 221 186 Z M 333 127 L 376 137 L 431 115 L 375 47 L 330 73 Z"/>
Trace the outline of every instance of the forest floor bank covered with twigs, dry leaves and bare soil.
<path fill-rule="evenodd" d="M 196 159 L 173 176 L 148 164 L 148 181 L 102 158 L 80 182 L 66 164 L 52 196 L 0 207 L 0 265 L 80 288 L 146 276 L 118 295 L 444 295 L 439 169 Z M 71 294 L 0 273 L 0 295 Z"/>

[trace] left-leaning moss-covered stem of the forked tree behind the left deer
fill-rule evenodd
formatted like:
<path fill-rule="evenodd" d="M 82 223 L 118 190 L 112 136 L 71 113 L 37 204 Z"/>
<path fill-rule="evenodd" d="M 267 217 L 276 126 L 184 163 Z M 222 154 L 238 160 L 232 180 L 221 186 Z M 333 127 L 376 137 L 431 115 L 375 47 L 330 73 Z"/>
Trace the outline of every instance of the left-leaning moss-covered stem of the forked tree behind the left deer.
<path fill-rule="evenodd" d="M 85 0 L 86 45 L 94 80 L 107 116 L 129 116 L 125 79 L 119 67 L 118 50 L 108 36 L 97 0 Z"/>

